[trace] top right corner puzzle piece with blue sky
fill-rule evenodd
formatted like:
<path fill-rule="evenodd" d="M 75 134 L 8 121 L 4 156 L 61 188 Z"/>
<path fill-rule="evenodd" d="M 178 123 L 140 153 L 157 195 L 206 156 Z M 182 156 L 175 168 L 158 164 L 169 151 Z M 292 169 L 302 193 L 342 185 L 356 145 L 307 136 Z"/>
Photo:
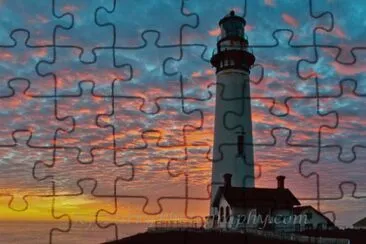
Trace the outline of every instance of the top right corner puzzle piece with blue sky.
<path fill-rule="evenodd" d="M 363 27 L 363 1 L 355 0 L 352 4 L 340 0 L 312 1 L 311 9 L 315 15 L 330 12 L 333 15 L 334 27 L 331 30 L 316 30 L 316 44 L 339 48 L 336 57 L 339 63 L 353 63 L 357 58 L 352 50 L 365 46 L 365 28 Z"/>

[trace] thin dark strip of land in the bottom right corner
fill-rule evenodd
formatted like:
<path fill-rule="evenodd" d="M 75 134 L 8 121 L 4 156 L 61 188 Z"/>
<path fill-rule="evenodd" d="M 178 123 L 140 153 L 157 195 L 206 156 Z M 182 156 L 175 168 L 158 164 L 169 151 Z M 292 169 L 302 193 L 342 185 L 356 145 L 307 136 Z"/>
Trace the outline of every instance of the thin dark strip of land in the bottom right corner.
<path fill-rule="evenodd" d="M 305 231 L 301 232 L 302 235 L 307 236 L 321 236 L 321 237 L 333 237 L 333 238 L 345 238 L 349 239 L 352 244 L 365 244 L 366 243 L 366 230 L 323 230 L 323 231 Z"/>

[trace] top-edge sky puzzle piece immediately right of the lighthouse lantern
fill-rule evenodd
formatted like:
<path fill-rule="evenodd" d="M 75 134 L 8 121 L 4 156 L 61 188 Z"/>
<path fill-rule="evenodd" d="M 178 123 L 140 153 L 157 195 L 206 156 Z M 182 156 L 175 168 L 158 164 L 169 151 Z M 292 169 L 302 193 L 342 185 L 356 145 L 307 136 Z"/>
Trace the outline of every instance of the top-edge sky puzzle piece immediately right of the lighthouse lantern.
<path fill-rule="evenodd" d="M 244 17 L 252 24 L 251 31 L 248 32 L 251 45 L 277 45 L 273 33 L 280 29 L 289 30 L 294 34 L 295 45 L 314 45 L 315 30 L 330 31 L 335 20 L 329 11 L 315 14 L 311 8 L 313 2 L 246 0 Z"/>

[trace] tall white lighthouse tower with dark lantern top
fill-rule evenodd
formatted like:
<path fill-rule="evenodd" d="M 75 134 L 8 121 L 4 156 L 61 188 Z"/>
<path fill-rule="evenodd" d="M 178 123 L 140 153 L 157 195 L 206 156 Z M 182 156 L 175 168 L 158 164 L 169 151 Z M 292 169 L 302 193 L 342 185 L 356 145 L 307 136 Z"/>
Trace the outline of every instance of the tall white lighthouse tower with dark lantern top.
<path fill-rule="evenodd" d="M 224 174 L 232 175 L 234 187 L 254 187 L 249 74 L 255 57 L 248 50 L 245 24 L 234 11 L 222 18 L 217 51 L 211 58 L 216 69 L 211 206 L 218 187 L 224 185 Z"/>

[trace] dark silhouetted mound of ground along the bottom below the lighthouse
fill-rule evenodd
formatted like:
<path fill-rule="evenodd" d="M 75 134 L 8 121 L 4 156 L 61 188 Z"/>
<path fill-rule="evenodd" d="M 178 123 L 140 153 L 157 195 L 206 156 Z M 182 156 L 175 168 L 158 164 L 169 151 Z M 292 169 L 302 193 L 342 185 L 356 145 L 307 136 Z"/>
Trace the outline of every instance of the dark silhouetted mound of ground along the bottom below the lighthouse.
<path fill-rule="evenodd" d="M 295 241 L 269 240 L 264 237 L 240 233 L 220 232 L 179 232 L 171 231 L 165 233 L 141 233 L 118 241 L 108 242 L 110 244 L 298 244 Z M 353 243 L 352 243 L 353 244 Z"/>

